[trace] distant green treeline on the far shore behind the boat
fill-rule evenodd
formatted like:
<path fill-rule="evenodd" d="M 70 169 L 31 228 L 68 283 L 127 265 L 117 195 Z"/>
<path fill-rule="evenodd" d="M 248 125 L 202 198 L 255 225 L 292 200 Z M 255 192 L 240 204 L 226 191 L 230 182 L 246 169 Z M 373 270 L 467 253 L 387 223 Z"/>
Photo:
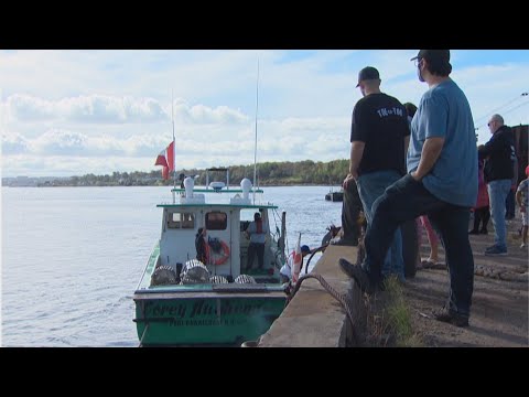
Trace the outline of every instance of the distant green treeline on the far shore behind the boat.
<path fill-rule="evenodd" d="M 314 162 L 304 160 L 299 162 L 264 162 L 257 164 L 257 179 L 260 186 L 281 185 L 339 185 L 347 175 L 349 160 L 333 160 L 330 162 Z M 176 170 L 176 179 L 180 174 L 186 176 L 198 175 L 195 184 L 206 184 L 205 169 Z M 229 184 L 238 185 L 244 178 L 253 180 L 253 165 L 229 167 Z M 209 182 L 225 182 L 225 174 L 210 172 Z M 72 176 L 40 183 L 40 186 L 162 186 L 173 185 L 174 178 L 164 181 L 160 170 L 150 172 L 112 172 L 111 175 L 95 175 L 93 173 L 83 176 Z M 180 183 L 180 182 L 179 182 Z"/>

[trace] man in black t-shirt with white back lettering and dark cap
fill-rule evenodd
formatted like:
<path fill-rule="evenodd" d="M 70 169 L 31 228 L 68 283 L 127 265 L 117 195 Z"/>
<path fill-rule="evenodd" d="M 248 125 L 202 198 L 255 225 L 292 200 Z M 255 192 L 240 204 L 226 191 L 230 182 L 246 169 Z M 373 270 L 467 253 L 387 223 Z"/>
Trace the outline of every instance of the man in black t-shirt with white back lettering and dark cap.
<path fill-rule="evenodd" d="M 367 66 L 358 74 L 364 98 L 353 110 L 350 127 L 349 174 L 344 184 L 355 180 L 368 225 L 375 201 L 386 187 L 406 174 L 406 151 L 410 139 L 408 115 L 402 104 L 380 92 L 380 75 Z M 382 275 L 404 280 L 402 235 L 400 228 L 382 266 Z"/>

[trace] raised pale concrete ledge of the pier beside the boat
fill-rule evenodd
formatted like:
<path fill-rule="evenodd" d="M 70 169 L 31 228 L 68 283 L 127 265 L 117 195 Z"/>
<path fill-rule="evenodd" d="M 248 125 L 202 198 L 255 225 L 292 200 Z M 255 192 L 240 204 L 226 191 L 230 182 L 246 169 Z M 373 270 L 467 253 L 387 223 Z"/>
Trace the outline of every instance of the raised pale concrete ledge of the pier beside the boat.
<path fill-rule="evenodd" d="M 313 273 L 321 275 L 347 297 L 355 322 L 364 318 L 360 291 L 338 267 L 338 259 L 355 262 L 356 247 L 328 246 Z M 304 280 L 281 316 L 263 334 L 259 347 L 342 347 L 354 344 L 350 321 L 341 303 L 315 279 Z"/>

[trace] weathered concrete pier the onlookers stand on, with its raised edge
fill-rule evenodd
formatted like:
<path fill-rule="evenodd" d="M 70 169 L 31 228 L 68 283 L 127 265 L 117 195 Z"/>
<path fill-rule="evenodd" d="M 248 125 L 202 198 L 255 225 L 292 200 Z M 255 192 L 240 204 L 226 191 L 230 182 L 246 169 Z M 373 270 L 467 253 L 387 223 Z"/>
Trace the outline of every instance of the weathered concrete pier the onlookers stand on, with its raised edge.
<path fill-rule="evenodd" d="M 471 326 L 456 328 L 432 318 L 430 311 L 443 305 L 447 297 L 445 266 L 418 269 L 407 280 L 404 297 L 411 312 L 413 332 L 430 346 L 525 346 L 529 347 L 528 250 L 520 249 L 519 222 L 508 225 L 508 250 L 503 257 L 487 257 L 484 250 L 494 244 L 494 233 L 471 236 L 475 277 Z M 423 236 L 423 244 L 427 239 Z M 422 256 L 429 249 L 423 245 Z M 336 291 L 345 294 L 354 313 L 355 329 L 364 330 L 366 301 L 355 282 L 338 267 L 343 257 L 356 262 L 357 248 L 330 246 L 314 267 Z M 440 246 L 440 261 L 444 250 Z M 361 331 L 360 331 L 361 332 Z M 355 346 L 350 321 L 341 303 L 317 280 L 305 280 L 294 299 L 270 330 L 259 347 L 343 347 Z"/>

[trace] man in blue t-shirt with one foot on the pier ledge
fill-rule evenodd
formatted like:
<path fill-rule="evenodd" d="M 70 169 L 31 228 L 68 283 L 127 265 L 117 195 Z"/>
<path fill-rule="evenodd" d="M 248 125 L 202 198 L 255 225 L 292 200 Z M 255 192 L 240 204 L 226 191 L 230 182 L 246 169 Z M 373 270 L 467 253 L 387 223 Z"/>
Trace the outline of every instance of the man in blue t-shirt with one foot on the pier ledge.
<path fill-rule="evenodd" d="M 441 235 L 450 273 L 450 293 L 435 319 L 467 326 L 474 288 L 474 258 L 468 240 L 469 208 L 477 197 L 477 148 L 471 106 L 449 77 L 449 50 L 421 50 L 415 61 L 420 82 L 429 85 L 411 124 L 408 174 L 373 205 L 361 266 L 341 258 L 339 266 L 366 292 L 384 288 L 381 265 L 391 236 L 403 222 L 428 215 Z"/>

